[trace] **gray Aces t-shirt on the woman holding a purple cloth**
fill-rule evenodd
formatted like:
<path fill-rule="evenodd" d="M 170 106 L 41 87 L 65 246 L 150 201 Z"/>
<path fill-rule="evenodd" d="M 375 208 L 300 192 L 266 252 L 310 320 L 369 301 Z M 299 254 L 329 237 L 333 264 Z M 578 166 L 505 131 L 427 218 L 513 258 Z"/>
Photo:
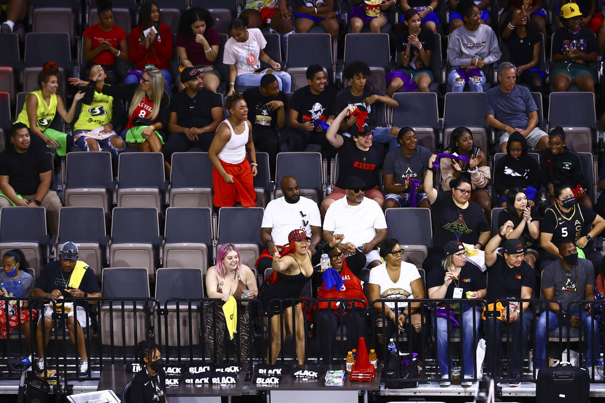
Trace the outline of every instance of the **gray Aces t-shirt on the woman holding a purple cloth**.
<path fill-rule="evenodd" d="M 421 145 L 416 146 L 416 151 L 411 157 L 404 156 L 401 147 L 391 149 L 384 159 L 382 173 L 393 175 L 395 183 L 404 183 L 405 179 L 416 179 L 422 185 L 424 182 L 424 171 L 428 166 L 431 151 Z"/>

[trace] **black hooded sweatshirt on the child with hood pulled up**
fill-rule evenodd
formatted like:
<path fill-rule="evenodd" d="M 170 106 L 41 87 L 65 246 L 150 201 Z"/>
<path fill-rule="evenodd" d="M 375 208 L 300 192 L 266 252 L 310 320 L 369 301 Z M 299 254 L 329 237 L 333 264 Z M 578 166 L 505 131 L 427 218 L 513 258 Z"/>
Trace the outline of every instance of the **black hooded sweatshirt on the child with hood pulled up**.
<path fill-rule="evenodd" d="M 523 152 L 519 159 L 511 157 L 511 143 L 521 142 Z M 538 173 L 538 162 L 528 156 L 528 142 L 523 134 L 515 131 L 511 134 L 506 144 L 506 156 L 498 160 L 494 169 L 494 189 L 497 194 L 504 194 L 506 189 L 540 188 L 540 174 Z"/>

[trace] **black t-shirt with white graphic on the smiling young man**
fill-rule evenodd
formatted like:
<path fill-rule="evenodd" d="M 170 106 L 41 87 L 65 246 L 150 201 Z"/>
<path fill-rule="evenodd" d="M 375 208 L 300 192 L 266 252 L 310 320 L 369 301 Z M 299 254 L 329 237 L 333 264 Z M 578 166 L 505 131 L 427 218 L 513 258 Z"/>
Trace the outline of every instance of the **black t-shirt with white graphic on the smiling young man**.
<path fill-rule="evenodd" d="M 298 112 L 298 123 L 309 122 L 311 119 L 328 120 L 335 115 L 334 89 L 325 86 L 325 90 L 317 95 L 312 94 L 310 86 L 298 88 L 292 94 L 290 109 Z"/>

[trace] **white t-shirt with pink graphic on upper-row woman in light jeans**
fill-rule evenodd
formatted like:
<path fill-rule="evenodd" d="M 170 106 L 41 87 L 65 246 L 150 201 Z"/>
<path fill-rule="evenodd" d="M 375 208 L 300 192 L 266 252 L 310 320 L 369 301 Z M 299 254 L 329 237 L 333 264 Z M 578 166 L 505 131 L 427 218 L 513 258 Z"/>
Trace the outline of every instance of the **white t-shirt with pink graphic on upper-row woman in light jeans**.
<path fill-rule="evenodd" d="M 267 40 L 264 39 L 260 29 L 248 28 L 248 34 L 246 42 L 229 38 L 225 44 L 223 63 L 234 64 L 238 76 L 261 67 L 258 56 L 261 54 L 261 49 L 267 45 Z"/>

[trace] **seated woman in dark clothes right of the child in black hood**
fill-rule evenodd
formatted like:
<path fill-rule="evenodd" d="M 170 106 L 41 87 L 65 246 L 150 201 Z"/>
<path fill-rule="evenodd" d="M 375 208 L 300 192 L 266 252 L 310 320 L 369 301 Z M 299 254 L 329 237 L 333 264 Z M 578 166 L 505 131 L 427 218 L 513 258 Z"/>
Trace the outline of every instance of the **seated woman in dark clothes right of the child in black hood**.
<path fill-rule="evenodd" d="M 551 206 L 555 204 L 555 188 L 566 184 L 574 190 L 578 203 L 592 209 L 592 200 L 586 194 L 588 182 L 584 178 L 580 156 L 567 148 L 565 132 L 561 126 L 555 127 L 548 134 L 548 145 L 550 148 L 543 149 L 540 155 L 540 181 L 551 195 Z"/>

